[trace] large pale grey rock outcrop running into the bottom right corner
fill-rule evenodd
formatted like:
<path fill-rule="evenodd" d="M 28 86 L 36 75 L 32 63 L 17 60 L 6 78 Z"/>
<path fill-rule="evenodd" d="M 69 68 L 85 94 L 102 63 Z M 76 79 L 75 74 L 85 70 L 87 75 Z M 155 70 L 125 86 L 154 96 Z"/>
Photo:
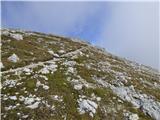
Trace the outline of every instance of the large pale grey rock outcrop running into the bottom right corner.
<path fill-rule="evenodd" d="M 155 120 L 160 119 L 160 103 L 149 96 L 137 93 L 133 87 L 113 87 L 113 91 L 122 99 L 131 102 L 136 108 L 141 108 Z M 137 98 L 134 98 L 137 96 Z"/>

